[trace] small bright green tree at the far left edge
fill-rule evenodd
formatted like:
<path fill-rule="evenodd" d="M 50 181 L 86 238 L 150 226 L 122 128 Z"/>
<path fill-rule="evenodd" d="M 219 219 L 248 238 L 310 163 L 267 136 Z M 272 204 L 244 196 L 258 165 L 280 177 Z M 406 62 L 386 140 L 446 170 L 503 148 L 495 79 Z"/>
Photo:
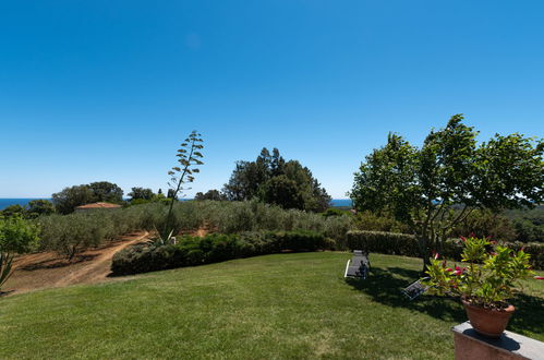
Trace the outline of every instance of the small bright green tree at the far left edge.
<path fill-rule="evenodd" d="M 13 257 L 36 248 L 38 228 L 35 224 L 15 215 L 0 217 L 0 289 L 11 276 Z"/>

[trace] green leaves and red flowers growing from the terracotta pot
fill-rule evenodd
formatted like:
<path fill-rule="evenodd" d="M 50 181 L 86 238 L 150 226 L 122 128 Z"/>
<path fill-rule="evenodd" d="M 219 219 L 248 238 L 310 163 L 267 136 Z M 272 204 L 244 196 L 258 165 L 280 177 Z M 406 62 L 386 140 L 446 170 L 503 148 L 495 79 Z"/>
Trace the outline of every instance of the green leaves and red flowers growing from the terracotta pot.
<path fill-rule="evenodd" d="M 456 295 L 471 303 L 485 308 L 504 308 L 511 298 L 519 280 L 532 274 L 530 255 L 523 250 L 496 245 L 485 238 L 463 239 L 461 253 L 464 267 L 447 266 L 438 254 L 427 266 L 431 290 L 437 295 Z"/>

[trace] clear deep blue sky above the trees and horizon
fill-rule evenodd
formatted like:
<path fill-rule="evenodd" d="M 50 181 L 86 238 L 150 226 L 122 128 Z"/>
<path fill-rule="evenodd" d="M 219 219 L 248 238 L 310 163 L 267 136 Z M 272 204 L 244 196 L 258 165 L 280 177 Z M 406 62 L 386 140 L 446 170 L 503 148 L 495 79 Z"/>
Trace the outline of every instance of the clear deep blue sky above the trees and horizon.
<path fill-rule="evenodd" d="M 389 131 L 458 112 L 544 135 L 544 1 L 0 2 L 0 197 L 166 190 L 193 129 L 189 196 L 267 146 L 346 197 Z"/>

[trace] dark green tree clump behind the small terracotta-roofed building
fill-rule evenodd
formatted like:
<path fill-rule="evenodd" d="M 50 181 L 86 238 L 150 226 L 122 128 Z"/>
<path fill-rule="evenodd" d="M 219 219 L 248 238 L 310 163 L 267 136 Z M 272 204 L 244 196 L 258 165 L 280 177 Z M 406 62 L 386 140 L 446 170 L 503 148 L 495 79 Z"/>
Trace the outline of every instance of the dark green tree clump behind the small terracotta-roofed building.
<path fill-rule="evenodd" d="M 58 213 L 70 214 L 75 207 L 89 203 L 121 204 L 123 203 L 123 191 L 114 183 L 99 181 L 64 188 L 61 192 L 52 194 L 52 200 Z"/>

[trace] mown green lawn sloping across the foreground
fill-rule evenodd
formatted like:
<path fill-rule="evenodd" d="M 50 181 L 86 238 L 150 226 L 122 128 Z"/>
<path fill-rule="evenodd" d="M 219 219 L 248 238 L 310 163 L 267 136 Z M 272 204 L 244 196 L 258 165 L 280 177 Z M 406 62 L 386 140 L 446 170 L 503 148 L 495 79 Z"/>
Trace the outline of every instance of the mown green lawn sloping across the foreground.
<path fill-rule="evenodd" d="M 451 359 L 454 300 L 406 300 L 418 259 L 276 254 L 0 299 L 0 358 Z M 544 281 L 530 280 L 509 329 L 544 340 Z"/>

